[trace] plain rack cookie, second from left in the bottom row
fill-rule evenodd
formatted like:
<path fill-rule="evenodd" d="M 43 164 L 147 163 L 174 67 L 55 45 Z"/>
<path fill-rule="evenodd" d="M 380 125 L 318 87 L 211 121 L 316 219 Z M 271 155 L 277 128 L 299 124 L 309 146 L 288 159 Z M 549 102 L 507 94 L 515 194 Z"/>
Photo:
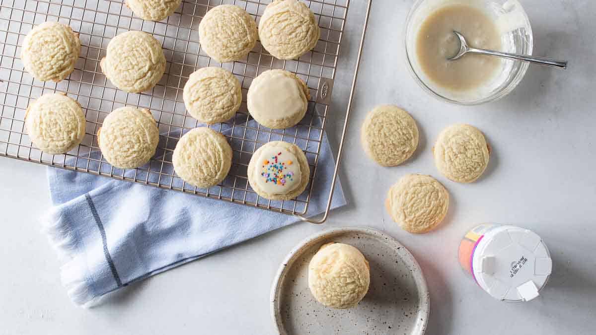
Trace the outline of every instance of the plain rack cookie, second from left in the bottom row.
<path fill-rule="evenodd" d="M 134 169 L 145 165 L 155 154 L 159 130 L 148 109 L 125 106 L 105 117 L 97 131 L 101 154 L 111 165 Z"/>

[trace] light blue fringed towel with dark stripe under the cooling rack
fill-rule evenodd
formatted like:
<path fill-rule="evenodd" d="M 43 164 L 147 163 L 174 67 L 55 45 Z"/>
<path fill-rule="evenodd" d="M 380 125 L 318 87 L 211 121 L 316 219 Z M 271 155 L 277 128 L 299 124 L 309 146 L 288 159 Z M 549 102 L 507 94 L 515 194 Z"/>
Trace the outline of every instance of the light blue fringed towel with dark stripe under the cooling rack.
<path fill-rule="evenodd" d="M 321 144 L 308 215 L 327 204 L 334 160 Z M 134 170 L 131 170 L 134 172 Z M 44 219 L 50 243 L 65 258 L 61 279 L 77 305 L 209 253 L 297 222 L 294 216 L 48 168 L 54 207 Z M 346 204 L 336 184 L 333 207 Z"/>

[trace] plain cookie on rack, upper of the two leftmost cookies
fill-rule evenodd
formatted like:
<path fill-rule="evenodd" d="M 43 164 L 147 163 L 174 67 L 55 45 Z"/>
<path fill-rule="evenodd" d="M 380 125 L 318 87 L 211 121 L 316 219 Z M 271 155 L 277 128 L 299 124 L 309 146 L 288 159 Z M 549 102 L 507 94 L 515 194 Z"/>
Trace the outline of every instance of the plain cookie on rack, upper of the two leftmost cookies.
<path fill-rule="evenodd" d="M 59 82 L 75 70 L 79 52 L 78 33 L 66 24 L 45 22 L 25 36 L 21 60 L 35 79 Z"/>

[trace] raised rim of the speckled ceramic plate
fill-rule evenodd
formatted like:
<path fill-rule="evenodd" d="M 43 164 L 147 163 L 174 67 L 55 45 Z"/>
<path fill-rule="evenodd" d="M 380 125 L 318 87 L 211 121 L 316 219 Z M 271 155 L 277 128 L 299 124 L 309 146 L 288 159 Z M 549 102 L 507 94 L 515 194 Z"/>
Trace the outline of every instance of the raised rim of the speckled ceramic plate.
<path fill-rule="evenodd" d="M 398 249 L 399 247 L 399 254 L 403 262 L 405 262 L 406 265 L 408 265 L 408 267 L 411 269 L 412 277 L 414 277 L 414 281 L 418 289 L 418 299 L 420 299 L 420 311 L 423 311 L 424 313 L 424 324 L 422 324 L 420 333 L 420 335 L 423 335 L 426 331 L 429 322 L 430 291 L 429 287 L 427 286 L 426 279 L 424 278 L 422 268 L 420 267 L 420 264 L 417 262 L 417 260 L 414 258 L 414 255 L 412 255 L 412 253 L 408 250 L 408 248 L 406 248 L 402 243 L 400 243 L 395 237 L 387 234 L 386 232 L 379 231 L 371 227 L 337 227 L 325 229 L 324 231 L 316 232 L 315 234 L 306 237 L 291 249 L 290 253 L 288 253 L 288 255 L 285 256 L 283 262 L 281 262 L 280 267 L 278 268 L 273 283 L 271 285 L 270 307 L 271 318 L 275 323 L 275 330 L 277 330 L 279 334 L 287 334 L 287 331 L 283 327 L 283 322 L 281 321 L 281 311 L 279 308 L 280 299 L 278 299 L 278 297 L 281 291 L 281 281 L 289 271 L 289 268 L 291 268 L 291 265 L 293 265 L 293 263 L 296 262 L 296 259 L 302 255 L 304 249 L 311 247 L 313 244 L 319 243 L 319 241 L 324 238 L 337 234 L 346 233 L 371 235 L 372 237 L 387 241 L 387 243 L 392 243 L 396 247 L 396 249 Z"/>

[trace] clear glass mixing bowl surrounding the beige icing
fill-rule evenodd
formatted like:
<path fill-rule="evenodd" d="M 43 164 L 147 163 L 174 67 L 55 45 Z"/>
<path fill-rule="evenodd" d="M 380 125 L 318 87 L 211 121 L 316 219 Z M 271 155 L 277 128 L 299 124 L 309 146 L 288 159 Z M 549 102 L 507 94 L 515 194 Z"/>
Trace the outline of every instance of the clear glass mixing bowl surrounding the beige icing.
<path fill-rule="evenodd" d="M 414 78 L 427 92 L 450 103 L 477 105 L 504 97 L 522 81 L 529 66 L 527 62 L 503 58 L 501 69 L 491 80 L 468 91 L 452 91 L 437 85 L 418 63 L 416 40 L 421 24 L 439 8 L 455 4 L 469 4 L 489 15 L 501 34 L 501 51 L 532 54 L 532 27 L 517 0 L 417 0 L 408 14 L 405 34 L 406 55 Z"/>

